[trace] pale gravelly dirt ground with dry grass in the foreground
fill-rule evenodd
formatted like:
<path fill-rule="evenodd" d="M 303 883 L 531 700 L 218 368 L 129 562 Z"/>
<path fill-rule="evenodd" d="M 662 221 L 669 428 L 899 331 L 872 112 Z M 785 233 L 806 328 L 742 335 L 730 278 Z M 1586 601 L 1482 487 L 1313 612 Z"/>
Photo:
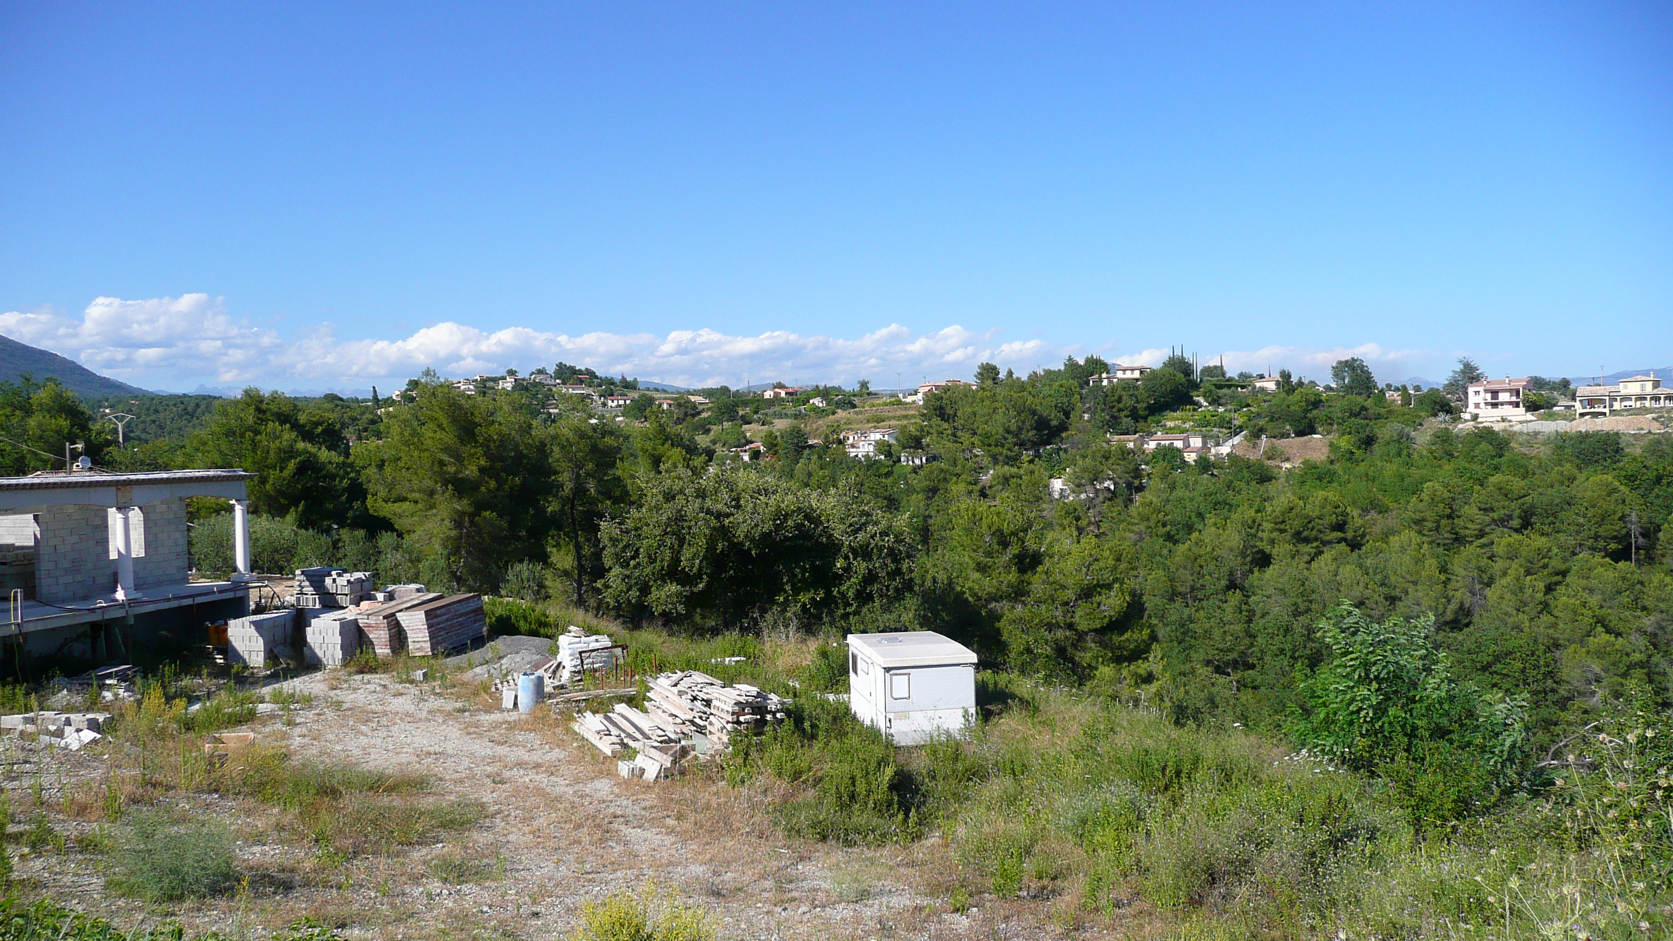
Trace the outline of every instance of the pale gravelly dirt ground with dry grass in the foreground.
<path fill-rule="evenodd" d="M 939 839 L 843 849 L 786 841 L 771 824 L 778 785 L 726 787 L 718 769 L 674 782 L 629 782 L 584 745 L 567 718 L 502 712 L 475 690 L 447 692 L 388 675 L 328 671 L 284 683 L 313 705 L 251 725 L 303 758 L 417 772 L 442 795 L 480 800 L 482 822 L 420 847 L 341 859 L 286 842 L 271 809 L 221 795 L 171 799 L 231 820 L 251 879 L 231 899 L 147 911 L 109 897 L 102 861 L 74 851 L 99 824 L 69 812 L 102 789 L 107 762 L 10 740 L 13 817 L 42 802 L 69 837 L 20 857 L 25 896 L 47 894 L 122 924 L 177 918 L 187 931 L 266 933 L 313 916 L 351 938 L 502 934 L 567 938 L 581 904 L 647 884 L 713 913 L 724 939 L 1052 938 L 1076 931 L 1067 901 L 995 901 L 952 913 L 959 874 Z M 1067 908 L 1066 908 L 1067 906 Z M 1056 919 L 1054 919 L 1056 916 Z M 1084 918 L 1076 936 L 1111 926 Z"/>

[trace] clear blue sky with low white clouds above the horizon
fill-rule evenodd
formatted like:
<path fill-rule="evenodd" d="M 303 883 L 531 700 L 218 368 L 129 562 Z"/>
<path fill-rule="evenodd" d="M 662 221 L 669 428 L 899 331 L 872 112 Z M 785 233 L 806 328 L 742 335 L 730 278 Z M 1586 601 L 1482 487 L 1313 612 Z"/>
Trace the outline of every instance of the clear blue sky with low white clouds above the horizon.
<path fill-rule="evenodd" d="M 0 5 L 0 333 L 151 388 L 1673 363 L 1673 7 Z"/>

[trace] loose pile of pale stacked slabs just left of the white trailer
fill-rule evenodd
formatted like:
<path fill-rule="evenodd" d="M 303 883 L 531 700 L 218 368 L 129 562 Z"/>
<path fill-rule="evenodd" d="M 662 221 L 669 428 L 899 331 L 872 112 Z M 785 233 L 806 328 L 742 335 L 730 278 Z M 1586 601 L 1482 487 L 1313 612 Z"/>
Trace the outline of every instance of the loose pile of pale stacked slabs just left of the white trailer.
<path fill-rule="evenodd" d="M 647 712 L 617 703 L 607 713 L 577 715 L 570 728 L 607 757 L 637 752 L 632 762 L 617 762 L 622 777 L 659 780 L 686 755 L 719 753 L 734 735 L 758 735 L 783 722 L 788 707 L 790 700 L 775 693 L 683 670 L 649 681 Z"/>

